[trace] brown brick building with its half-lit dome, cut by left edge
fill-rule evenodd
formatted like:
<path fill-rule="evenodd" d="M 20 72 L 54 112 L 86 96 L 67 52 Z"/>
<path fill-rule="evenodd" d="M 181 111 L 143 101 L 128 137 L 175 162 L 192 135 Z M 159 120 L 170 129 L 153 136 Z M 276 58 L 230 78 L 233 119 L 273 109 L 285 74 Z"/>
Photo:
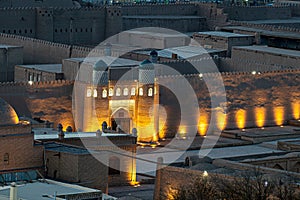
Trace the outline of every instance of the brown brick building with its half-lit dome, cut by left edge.
<path fill-rule="evenodd" d="M 0 174 L 43 169 L 43 148 L 34 143 L 29 123 L 0 98 Z M 7 182 L 3 176 L 0 182 Z M 8 177 L 9 179 L 9 177 Z"/>

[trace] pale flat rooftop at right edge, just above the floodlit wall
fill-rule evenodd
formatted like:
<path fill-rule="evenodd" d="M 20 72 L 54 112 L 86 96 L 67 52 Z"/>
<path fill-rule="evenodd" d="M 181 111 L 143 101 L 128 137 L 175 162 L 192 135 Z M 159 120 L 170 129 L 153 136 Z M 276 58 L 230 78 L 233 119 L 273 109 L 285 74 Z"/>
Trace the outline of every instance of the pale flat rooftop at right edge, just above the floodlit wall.
<path fill-rule="evenodd" d="M 268 47 L 268 46 L 259 46 L 259 45 L 238 46 L 238 47 L 233 47 L 233 49 L 243 49 L 243 50 L 261 52 L 261 53 L 300 57 L 300 51 Z"/>

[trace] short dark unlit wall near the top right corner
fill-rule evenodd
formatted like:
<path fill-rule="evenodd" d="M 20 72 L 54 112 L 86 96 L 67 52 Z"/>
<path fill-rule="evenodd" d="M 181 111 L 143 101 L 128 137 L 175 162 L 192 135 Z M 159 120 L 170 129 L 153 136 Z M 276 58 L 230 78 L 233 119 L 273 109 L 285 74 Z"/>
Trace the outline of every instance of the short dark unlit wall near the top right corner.
<path fill-rule="evenodd" d="M 288 19 L 292 16 L 289 7 L 277 6 L 234 6 L 224 8 L 230 20 L 252 21 L 266 19 Z"/>

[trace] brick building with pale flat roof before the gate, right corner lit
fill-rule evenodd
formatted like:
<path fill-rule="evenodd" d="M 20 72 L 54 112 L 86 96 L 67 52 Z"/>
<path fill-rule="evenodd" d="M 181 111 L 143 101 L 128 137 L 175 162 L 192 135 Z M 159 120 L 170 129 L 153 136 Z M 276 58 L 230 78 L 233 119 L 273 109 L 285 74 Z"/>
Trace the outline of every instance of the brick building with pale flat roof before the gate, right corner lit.
<path fill-rule="evenodd" d="M 35 140 L 45 147 L 46 177 L 102 191 L 136 184 L 136 137 L 99 132 L 60 135 L 61 131 L 33 129 Z"/>

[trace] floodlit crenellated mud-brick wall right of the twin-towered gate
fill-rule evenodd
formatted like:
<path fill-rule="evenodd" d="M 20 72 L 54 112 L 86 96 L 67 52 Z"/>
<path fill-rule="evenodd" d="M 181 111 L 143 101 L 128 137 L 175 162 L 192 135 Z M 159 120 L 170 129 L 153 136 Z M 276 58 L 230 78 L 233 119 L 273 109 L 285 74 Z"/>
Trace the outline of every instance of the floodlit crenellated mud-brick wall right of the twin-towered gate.
<path fill-rule="evenodd" d="M 197 95 L 200 106 L 199 134 L 204 134 L 211 122 L 213 127 L 208 132 L 219 129 L 262 127 L 282 125 L 290 119 L 299 119 L 300 93 L 299 70 L 273 71 L 253 75 L 251 72 L 216 73 L 185 76 Z M 161 77 L 162 84 L 177 84 L 176 76 Z M 208 92 L 205 80 L 212 81 L 211 94 Z M 218 93 L 220 87 L 216 81 L 224 83 L 226 93 Z M 180 116 L 179 104 L 174 104 L 173 94 L 165 88 L 160 88 L 160 104 L 167 111 L 167 125 L 163 128 L 164 135 L 174 136 L 181 127 L 172 116 Z M 223 104 L 211 109 L 211 97 L 227 98 L 227 110 L 222 109 Z M 288 98 L 287 98 L 288 97 Z M 196 107 L 195 107 L 196 109 Z M 172 129 L 170 129 L 172 128 Z M 201 129 L 201 130 L 200 130 Z M 203 130 L 204 129 L 204 130 Z"/>

